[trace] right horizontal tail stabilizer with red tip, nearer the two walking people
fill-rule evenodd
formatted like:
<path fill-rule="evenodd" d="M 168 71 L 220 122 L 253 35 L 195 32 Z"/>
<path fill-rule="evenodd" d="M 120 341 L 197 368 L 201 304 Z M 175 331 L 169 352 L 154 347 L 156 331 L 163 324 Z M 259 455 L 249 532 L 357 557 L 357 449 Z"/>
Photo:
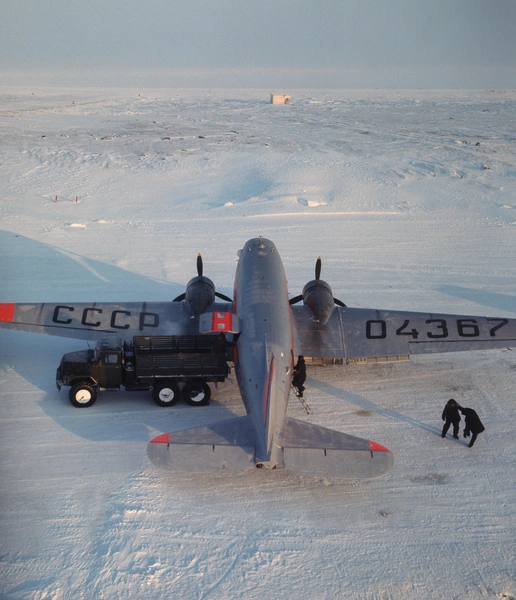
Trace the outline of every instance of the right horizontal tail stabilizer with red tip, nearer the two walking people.
<path fill-rule="evenodd" d="M 297 419 L 287 420 L 282 445 L 285 469 L 305 477 L 371 479 L 394 463 L 376 442 Z"/>

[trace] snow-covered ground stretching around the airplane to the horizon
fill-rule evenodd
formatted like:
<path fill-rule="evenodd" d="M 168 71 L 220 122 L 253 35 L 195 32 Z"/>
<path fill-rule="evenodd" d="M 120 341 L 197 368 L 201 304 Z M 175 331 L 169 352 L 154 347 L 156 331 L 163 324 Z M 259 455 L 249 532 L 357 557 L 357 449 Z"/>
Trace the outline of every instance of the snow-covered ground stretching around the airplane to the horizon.
<path fill-rule="evenodd" d="M 231 295 L 263 235 L 292 295 L 321 255 L 349 306 L 514 318 L 515 92 L 287 92 L 1 89 L 0 302 L 172 299 L 198 252 Z M 236 382 L 78 410 L 54 376 L 85 347 L 0 332 L 1 598 L 516 596 L 516 350 L 309 367 L 289 414 L 395 455 L 335 482 L 157 470 L 155 435 L 244 414 Z"/>

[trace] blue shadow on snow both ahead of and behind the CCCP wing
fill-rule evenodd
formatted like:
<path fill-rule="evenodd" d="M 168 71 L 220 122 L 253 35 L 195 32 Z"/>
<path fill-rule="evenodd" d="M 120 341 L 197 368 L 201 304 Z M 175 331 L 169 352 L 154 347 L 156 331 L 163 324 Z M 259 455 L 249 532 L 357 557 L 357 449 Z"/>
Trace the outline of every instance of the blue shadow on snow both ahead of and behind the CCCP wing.
<path fill-rule="evenodd" d="M 157 281 L 8 231 L 0 231 L 0 281 L 0 301 L 16 302 L 32 301 L 34 297 L 41 302 L 172 300 L 184 291 L 186 283 Z M 214 417 L 235 416 L 215 399 L 207 408 L 191 409 L 182 404 L 160 408 L 151 393 L 144 391 L 105 393 L 95 406 L 77 409 L 69 403 L 67 390 L 58 392 L 55 373 L 64 353 L 85 350 L 88 342 L 16 331 L 1 331 L 0 336 L 0 368 L 14 370 L 46 392 L 39 402 L 42 410 L 85 439 L 148 441 L 149 429 L 195 427 Z M 137 414 L 132 414 L 135 411 Z M 126 415 L 123 428 L 121 415 Z"/>

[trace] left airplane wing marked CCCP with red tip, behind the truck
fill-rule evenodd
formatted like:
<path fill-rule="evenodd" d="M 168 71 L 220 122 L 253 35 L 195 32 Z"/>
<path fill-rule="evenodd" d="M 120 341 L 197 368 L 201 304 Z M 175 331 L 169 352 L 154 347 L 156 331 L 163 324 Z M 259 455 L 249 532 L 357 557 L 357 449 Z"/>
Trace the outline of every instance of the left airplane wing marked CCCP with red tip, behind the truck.
<path fill-rule="evenodd" d="M 231 312 L 230 303 L 210 311 Z M 107 335 L 195 335 L 199 321 L 185 302 L 0 304 L 0 328 L 84 340 Z"/>

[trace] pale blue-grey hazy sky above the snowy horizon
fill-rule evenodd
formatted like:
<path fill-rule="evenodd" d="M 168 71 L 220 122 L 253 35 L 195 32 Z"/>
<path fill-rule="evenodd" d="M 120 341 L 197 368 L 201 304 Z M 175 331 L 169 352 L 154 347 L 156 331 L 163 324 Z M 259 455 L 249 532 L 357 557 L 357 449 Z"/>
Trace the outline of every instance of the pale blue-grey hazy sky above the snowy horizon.
<path fill-rule="evenodd" d="M 516 0 L 0 0 L 0 83 L 83 71 L 514 89 Z"/>

